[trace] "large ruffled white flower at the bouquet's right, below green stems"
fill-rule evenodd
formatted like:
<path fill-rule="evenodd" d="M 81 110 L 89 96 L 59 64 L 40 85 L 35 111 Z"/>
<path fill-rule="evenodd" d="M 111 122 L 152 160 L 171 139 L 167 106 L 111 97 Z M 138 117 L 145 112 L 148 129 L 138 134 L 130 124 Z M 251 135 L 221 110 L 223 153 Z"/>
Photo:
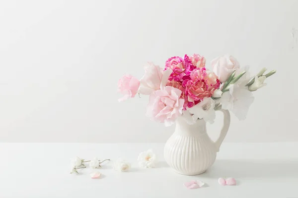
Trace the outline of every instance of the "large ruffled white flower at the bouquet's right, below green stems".
<path fill-rule="evenodd" d="M 240 85 L 230 85 L 229 91 L 224 92 L 221 101 L 222 108 L 230 110 L 239 120 L 246 118 L 248 108 L 252 104 L 254 97 L 247 87 Z"/>

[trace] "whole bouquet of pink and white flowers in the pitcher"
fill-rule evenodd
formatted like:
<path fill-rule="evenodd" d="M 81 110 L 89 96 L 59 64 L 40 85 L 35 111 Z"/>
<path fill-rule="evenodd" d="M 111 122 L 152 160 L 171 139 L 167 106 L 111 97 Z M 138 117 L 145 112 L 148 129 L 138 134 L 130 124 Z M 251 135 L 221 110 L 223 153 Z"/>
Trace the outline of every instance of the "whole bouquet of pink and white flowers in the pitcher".
<path fill-rule="evenodd" d="M 137 94 L 149 95 L 147 116 L 165 126 L 173 124 L 178 116 L 188 124 L 197 119 L 213 123 L 220 108 L 243 120 L 254 100 L 252 92 L 264 87 L 265 79 L 276 72 L 264 74 L 267 69 L 263 68 L 251 77 L 249 67 L 240 68 L 231 55 L 213 59 L 212 70 L 205 64 L 206 58 L 199 54 L 171 57 L 164 69 L 148 62 L 140 80 L 131 75 L 119 80 L 118 91 L 124 95 L 119 101 Z"/>

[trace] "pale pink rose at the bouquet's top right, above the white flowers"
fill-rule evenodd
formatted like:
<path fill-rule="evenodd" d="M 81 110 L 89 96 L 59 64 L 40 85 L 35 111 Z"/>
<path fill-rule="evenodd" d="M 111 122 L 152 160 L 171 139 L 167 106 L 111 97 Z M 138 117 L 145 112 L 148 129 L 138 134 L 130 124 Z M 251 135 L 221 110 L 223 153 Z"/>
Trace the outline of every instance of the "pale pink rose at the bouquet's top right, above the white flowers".
<path fill-rule="evenodd" d="M 231 55 L 224 55 L 223 57 L 217 57 L 211 61 L 213 72 L 218 79 L 223 83 L 233 73 L 234 70 L 239 68 L 239 63 Z"/>

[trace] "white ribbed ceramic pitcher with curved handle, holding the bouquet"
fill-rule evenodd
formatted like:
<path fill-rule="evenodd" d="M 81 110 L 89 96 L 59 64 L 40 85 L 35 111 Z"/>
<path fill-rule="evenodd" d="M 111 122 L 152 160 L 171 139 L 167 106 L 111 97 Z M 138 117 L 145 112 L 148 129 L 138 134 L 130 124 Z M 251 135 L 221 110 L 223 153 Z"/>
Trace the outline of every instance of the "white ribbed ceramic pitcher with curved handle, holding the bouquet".
<path fill-rule="evenodd" d="M 215 161 L 230 124 L 228 110 L 224 113 L 224 126 L 219 139 L 213 142 L 207 134 L 206 122 L 197 120 L 189 125 L 183 118 L 178 118 L 173 135 L 165 143 L 164 158 L 175 172 L 183 175 L 204 173 Z"/>

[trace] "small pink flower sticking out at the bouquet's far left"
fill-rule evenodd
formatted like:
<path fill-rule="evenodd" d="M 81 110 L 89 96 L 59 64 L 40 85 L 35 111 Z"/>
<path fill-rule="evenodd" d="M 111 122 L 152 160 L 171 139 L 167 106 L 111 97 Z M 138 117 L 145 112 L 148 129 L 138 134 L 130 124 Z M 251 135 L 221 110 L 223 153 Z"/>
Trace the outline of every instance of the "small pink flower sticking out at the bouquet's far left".
<path fill-rule="evenodd" d="M 130 74 L 122 76 L 118 81 L 118 92 L 124 96 L 118 99 L 119 102 L 129 98 L 134 98 L 138 93 L 140 81 Z"/>

